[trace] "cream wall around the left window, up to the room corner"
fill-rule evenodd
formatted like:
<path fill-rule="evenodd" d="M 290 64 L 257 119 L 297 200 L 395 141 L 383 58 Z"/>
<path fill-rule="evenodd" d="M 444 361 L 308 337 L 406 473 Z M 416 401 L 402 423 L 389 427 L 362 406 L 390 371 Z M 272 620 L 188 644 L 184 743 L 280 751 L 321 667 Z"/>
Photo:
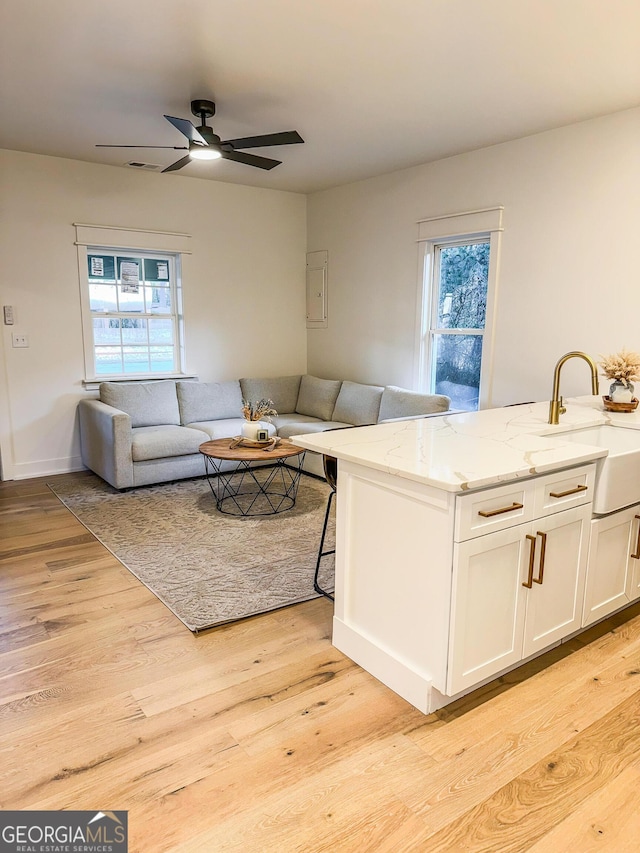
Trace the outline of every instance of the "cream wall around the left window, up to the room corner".
<path fill-rule="evenodd" d="M 73 222 L 193 235 L 186 367 L 203 381 L 305 371 L 305 196 L 0 151 L 0 198 L 0 303 L 16 312 L 0 348 L 4 479 L 82 467 Z"/>

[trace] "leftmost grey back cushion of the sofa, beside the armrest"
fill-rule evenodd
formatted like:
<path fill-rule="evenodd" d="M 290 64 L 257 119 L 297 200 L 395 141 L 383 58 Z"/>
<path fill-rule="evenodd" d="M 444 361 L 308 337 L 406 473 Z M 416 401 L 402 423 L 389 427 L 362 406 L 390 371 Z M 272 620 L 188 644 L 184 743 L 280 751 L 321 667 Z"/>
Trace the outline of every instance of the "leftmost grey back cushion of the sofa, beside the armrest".
<path fill-rule="evenodd" d="M 100 399 L 108 406 L 126 412 L 131 426 L 180 424 L 176 383 L 173 379 L 158 382 L 101 382 Z"/>

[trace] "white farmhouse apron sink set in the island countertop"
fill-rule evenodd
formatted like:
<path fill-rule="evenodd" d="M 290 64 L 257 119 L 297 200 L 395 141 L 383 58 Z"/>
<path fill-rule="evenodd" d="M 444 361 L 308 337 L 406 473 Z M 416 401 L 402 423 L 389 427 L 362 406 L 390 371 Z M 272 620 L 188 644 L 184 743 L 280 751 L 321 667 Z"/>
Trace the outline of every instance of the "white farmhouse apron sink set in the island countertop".
<path fill-rule="evenodd" d="M 565 441 L 603 447 L 608 456 L 597 460 L 593 512 L 606 515 L 640 502 L 640 430 L 606 424 L 557 435 Z"/>

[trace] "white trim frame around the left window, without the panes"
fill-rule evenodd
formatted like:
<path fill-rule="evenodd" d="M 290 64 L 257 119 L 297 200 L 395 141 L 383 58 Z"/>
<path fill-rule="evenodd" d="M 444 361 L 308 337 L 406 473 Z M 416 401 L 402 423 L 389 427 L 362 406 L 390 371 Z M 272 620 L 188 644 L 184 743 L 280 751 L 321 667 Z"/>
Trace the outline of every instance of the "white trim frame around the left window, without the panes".
<path fill-rule="evenodd" d="M 83 347 L 85 377 L 83 384 L 94 389 L 100 382 L 132 382 L 135 380 L 168 379 L 186 377 L 185 371 L 185 329 L 182 307 L 182 278 L 184 266 L 188 261 L 190 235 L 165 231 L 139 231 L 132 228 L 116 228 L 103 225 L 85 225 L 74 223 L 76 246 L 78 250 L 78 276 L 80 285 L 80 306 L 82 313 Z M 93 338 L 93 314 L 89 301 L 88 256 L 90 254 L 116 253 L 151 259 L 167 259 L 170 264 L 172 282 L 171 319 L 174 329 L 175 369 L 169 372 L 142 372 L 97 374 L 95 370 L 95 349 Z M 139 313 L 122 316 L 135 316 Z M 155 316 L 155 315 L 153 315 Z M 169 315 L 167 315 L 169 316 Z"/>

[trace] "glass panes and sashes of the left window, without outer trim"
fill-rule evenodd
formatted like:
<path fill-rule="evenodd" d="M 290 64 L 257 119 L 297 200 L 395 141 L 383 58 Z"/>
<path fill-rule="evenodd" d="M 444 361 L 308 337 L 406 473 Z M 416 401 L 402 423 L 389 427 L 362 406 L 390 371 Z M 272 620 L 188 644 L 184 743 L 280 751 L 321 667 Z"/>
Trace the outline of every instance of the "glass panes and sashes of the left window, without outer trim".
<path fill-rule="evenodd" d="M 180 369 L 178 259 L 87 249 L 93 374 Z"/>

